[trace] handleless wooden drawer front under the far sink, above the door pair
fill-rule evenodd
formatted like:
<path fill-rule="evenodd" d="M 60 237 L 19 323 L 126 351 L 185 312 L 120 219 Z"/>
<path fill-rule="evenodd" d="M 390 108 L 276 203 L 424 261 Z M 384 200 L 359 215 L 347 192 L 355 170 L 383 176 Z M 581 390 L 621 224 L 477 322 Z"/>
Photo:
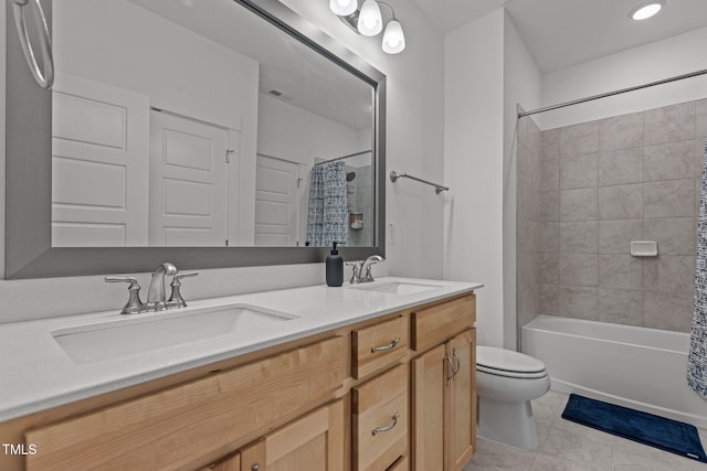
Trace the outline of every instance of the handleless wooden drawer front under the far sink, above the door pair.
<path fill-rule="evenodd" d="M 412 349 L 428 350 L 474 325 L 475 321 L 475 295 L 418 310 L 411 314 Z"/>

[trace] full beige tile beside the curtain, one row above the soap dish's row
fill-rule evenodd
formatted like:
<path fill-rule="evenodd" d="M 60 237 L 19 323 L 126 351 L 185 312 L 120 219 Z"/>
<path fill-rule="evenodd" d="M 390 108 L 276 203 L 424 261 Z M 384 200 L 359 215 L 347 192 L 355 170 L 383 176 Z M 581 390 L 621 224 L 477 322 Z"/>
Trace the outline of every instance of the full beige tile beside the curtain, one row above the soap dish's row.
<path fill-rule="evenodd" d="M 643 217 L 692 217 L 694 215 L 694 180 L 672 180 L 643 184 Z"/>

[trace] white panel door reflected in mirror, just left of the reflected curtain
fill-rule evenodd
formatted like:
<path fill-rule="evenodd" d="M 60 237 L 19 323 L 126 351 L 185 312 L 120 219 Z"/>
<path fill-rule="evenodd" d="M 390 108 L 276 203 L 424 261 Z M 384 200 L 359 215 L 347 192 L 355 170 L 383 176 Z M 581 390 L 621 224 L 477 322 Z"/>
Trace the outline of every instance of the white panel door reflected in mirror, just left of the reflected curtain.
<path fill-rule="evenodd" d="M 298 245 L 299 164 L 257 156 L 255 173 L 255 245 Z"/>

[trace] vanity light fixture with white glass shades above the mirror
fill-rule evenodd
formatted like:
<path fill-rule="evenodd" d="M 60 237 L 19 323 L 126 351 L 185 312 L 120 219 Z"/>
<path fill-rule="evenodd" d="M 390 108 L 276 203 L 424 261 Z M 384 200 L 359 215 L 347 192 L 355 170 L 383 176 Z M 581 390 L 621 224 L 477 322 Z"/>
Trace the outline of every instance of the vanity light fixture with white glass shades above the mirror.
<path fill-rule="evenodd" d="M 395 18 L 395 12 L 391 6 L 378 0 L 365 0 L 361 9 L 359 10 L 358 2 L 356 0 L 350 1 L 354 4 L 354 10 L 350 10 L 351 6 L 347 0 L 329 0 L 329 8 L 357 34 L 374 36 L 383 30 L 384 22 L 380 11 L 380 6 L 382 4 L 383 7 L 388 7 L 391 13 L 391 19 L 386 24 L 382 49 L 388 54 L 398 54 L 405 49 L 405 35 L 402 31 L 402 24 L 400 24 L 400 21 Z M 346 10 L 340 8 L 345 3 L 348 7 Z"/>

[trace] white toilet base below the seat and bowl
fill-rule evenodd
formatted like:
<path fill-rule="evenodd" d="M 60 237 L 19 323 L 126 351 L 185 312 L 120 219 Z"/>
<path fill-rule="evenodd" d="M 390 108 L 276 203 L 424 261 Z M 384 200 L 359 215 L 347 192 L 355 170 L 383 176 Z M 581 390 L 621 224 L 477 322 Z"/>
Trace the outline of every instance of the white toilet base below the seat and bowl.
<path fill-rule="evenodd" d="M 529 400 L 496 402 L 478 398 L 479 437 L 524 450 L 538 448 L 538 430 Z"/>

